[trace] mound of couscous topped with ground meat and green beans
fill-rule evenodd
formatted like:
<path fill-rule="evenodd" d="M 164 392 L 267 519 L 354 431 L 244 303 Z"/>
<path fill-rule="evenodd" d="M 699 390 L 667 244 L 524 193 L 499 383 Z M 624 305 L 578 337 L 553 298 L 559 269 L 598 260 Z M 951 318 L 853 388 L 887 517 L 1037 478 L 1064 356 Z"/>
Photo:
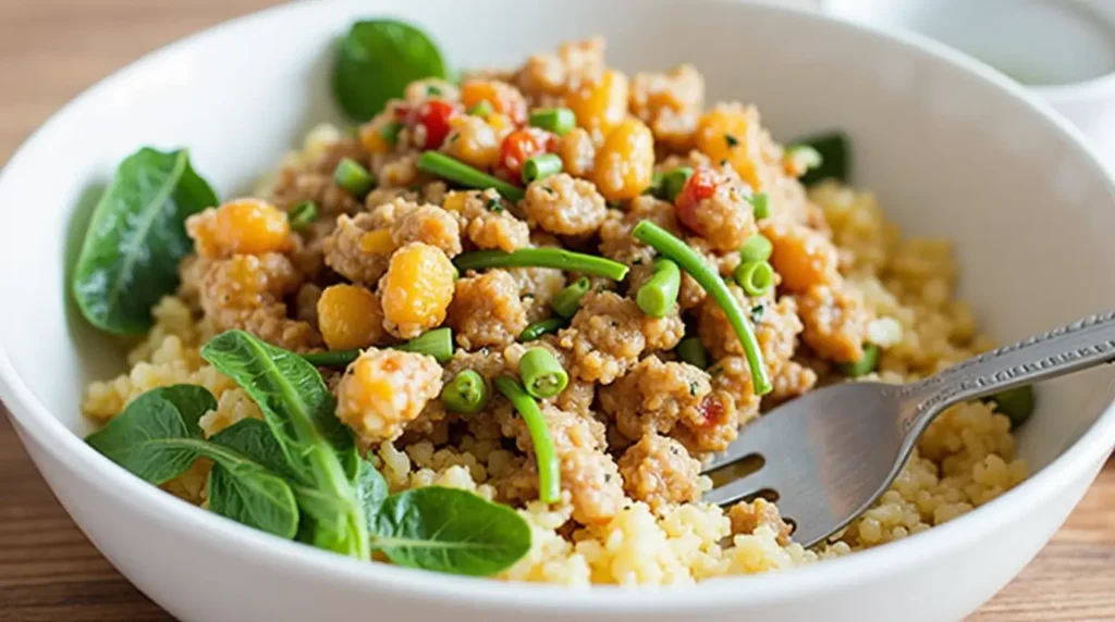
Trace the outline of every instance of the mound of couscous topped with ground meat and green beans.
<path fill-rule="evenodd" d="M 811 563 L 930 529 L 1026 476 L 1010 417 L 970 403 L 932 424 L 874 507 L 811 550 L 776 504 L 701 503 L 702 458 L 779 403 L 851 378 L 924 377 L 991 346 L 952 298 L 949 245 L 902 237 L 869 191 L 814 182 L 817 149 L 779 145 L 754 107 L 706 101 L 698 68 L 626 75 L 600 39 L 398 95 L 352 132 L 311 131 L 252 196 L 182 218 L 177 287 L 133 342 L 130 369 L 88 387 L 89 417 L 114 422 L 149 395 L 177 404 L 197 443 L 255 457 L 230 432 L 278 442 L 266 455 L 287 462 L 249 462 L 279 481 L 268 490 L 292 491 L 293 514 L 241 519 L 277 535 L 571 585 Z M 679 269 L 648 229 L 683 241 L 715 284 Z M 721 287 L 728 304 L 711 295 Z M 246 358 L 229 361 L 253 344 L 281 369 L 237 375 Z M 272 372 L 297 375 L 306 409 L 332 417 L 307 421 L 342 438 L 339 460 L 314 458 L 312 442 L 309 458 L 280 451 L 314 431 L 244 382 Z M 193 419 L 151 393 L 182 385 L 202 387 Z M 256 419 L 268 425 L 244 424 Z M 90 443 L 139 468 L 118 438 Z M 370 551 L 322 536 L 328 517 L 302 490 L 355 498 L 360 475 L 327 473 L 349 472 L 349 445 L 387 488 L 343 515 L 368 520 L 350 532 Z M 236 519 L 212 495 L 239 472 L 213 452 L 159 454 L 177 467 L 140 476 Z M 398 526 L 382 516 L 400 495 L 432 486 L 513 509 L 500 519 L 525 523 L 508 540 L 521 550 L 462 570 L 377 545 L 377 529 Z"/>

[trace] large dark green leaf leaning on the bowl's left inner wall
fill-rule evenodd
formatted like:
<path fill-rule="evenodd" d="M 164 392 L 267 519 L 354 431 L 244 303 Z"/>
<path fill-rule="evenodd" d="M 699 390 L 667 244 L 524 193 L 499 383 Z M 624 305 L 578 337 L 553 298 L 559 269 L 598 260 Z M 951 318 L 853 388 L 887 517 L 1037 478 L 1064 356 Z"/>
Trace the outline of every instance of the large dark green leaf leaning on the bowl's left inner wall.
<path fill-rule="evenodd" d="M 178 260 L 193 249 L 186 217 L 216 203 L 185 149 L 144 148 L 120 162 L 74 269 L 81 314 L 116 335 L 147 332 L 151 307 L 178 286 Z"/>

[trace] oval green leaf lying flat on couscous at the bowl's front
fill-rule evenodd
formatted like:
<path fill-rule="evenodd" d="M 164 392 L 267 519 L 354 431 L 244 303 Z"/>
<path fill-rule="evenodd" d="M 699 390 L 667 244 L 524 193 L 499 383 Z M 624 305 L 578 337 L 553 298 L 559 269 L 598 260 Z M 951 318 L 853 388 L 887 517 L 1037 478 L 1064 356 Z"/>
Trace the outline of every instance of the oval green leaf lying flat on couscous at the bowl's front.
<path fill-rule="evenodd" d="M 391 495 L 375 524 L 372 547 L 410 567 L 487 576 L 531 550 L 531 527 L 514 510 L 455 488 Z"/>

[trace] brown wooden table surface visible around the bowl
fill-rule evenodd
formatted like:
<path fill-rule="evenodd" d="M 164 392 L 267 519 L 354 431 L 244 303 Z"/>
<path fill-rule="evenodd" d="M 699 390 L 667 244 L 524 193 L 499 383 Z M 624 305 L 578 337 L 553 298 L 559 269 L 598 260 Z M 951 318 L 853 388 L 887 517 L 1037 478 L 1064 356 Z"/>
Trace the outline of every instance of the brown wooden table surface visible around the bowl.
<path fill-rule="evenodd" d="M 0 0 L 0 162 L 110 71 L 273 3 Z M 168 619 L 89 544 L 0 416 L 0 622 Z M 1045 551 L 972 620 L 1115 620 L 1115 461 Z"/>

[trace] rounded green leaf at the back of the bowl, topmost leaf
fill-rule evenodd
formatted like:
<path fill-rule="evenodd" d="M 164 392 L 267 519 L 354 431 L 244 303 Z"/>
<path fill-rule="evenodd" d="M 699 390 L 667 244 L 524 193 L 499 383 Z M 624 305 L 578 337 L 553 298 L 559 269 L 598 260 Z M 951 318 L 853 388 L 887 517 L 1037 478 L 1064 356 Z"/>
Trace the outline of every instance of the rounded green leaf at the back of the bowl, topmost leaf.
<path fill-rule="evenodd" d="M 421 30 L 391 19 L 358 21 L 337 50 L 333 95 L 349 117 L 366 121 L 410 82 L 447 76 L 442 52 Z"/>

